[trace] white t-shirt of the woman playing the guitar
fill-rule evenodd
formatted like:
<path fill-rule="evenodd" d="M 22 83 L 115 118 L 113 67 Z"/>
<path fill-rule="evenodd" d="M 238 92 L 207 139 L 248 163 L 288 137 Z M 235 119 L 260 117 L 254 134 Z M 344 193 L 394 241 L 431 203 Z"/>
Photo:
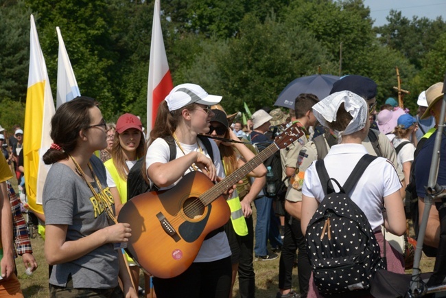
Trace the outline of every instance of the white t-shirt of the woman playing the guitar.
<path fill-rule="evenodd" d="M 200 148 L 203 150 L 205 155 L 209 158 L 211 158 L 206 151 L 206 148 L 198 139 L 198 142 L 200 143 Z M 185 156 L 185 154 L 188 154 L 189 152 L 200 152 L 200 148 L 198 147 L 198 144 L 193 145 L 187 145 L 180 143 L 181 147 L 185 151 L 181 151 L 181 149 L 176 145 L 176 158 L 180 158 Z M 224 178 L 224 168 L 222 165 L 222 161 L 220 160 L 220 151 L 218 150 L 217 144 L 215 144 L 214 141 L 211 141 L 212 151 L 213 151 L 213 160 L 215 164 L 215 169 L 217 170 L 217 175 Z M 158 138 L 153 141 L 152 144 L 150 144 L 147 154 L 145 155 L 145 168 L 146 170 L 150 168 L 150 165 L 154 163 L 167 163 L 169 161 L 170 157 L 170 150 L 169 145 L 167 142 L 162 139 Z M 191 172 L 193 170 L 192 167 L 189 167 L 189 169 L 185 172 L 185 174 Z M 181 178 L 180 178 L 181 179 Z M 178 179 L 178 181 L 180 181 Z M 161 187 L 160 190 L 168 190 L 169 188 L 174 187 L 178 181 L 174 182 L 172 185 L 169 185 L 168 187 Z M 217 235 L 213 236 L 212 238 L 209 238 L 208 240 L 204 240 L 200 251 L 198 251 L 198 255 L 196 259 L 193 262 L 212 262 L 216 260 L 222 260 L 224 257 L 228 257 L 231 255 L 231 249 L 229 247 L 228 238 L 226 237 L 226 233 L 220 232 Z"/>

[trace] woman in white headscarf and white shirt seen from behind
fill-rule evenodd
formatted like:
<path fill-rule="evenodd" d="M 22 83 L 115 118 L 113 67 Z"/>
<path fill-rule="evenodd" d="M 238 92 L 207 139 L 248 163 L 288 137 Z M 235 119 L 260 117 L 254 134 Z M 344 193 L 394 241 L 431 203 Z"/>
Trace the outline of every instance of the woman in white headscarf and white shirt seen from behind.
<path fill-rule="evenodd" d="M 313 111 L 322 125 L 340 134 L 340 144 L 331 147 L 324 162 L 330 178 L 344 185 L 356 163 L 367 154 L 361 144 L 370 127 L 370 122 L 367 121 L 367 104 L 359 95 L 341 91 L 321 100 L 313 107 Z M 381 225 L 384 224 L 388 231 L 397 236 L 406 231 L 406 216 L 399 195 L 400 188 L 401 183 L 392 163 L 377 157 L 368 165 L 360 181 L 349 194 L 353 202 L 362 209 L 375 231 L 382 255 L 384 240 Z M 305 234 L 309 221 L 325 197 L 315 163 L 312 163 L 305 172 L 302 194 L 301 228 Z M 386 211 L 383 211 L 383 205 Z M 404 273 L 401 255 L 398 255 L 388 242 L 386 242 L 386 257 L 388 271 Z M 308 297 L 320 297 L 313 278 L 310 279 Z"/>

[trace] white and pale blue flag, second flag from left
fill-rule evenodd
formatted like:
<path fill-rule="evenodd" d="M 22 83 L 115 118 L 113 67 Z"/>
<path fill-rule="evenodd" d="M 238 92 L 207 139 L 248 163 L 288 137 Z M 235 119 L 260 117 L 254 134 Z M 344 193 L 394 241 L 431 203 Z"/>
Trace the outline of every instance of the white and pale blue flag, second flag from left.
<path fill-rule="evenodd" d="M 56 27 L 59 39 L 59 56 L 58 56 L 58 89 L 56 96 L 56 108 L 65 102 L 69 102 L 73 98 L 80 96 L 78 82 L 74 76 L 73 67 L 71 67 L 68 58 L 67 49 L 62 39 L 59 27 Z"/>

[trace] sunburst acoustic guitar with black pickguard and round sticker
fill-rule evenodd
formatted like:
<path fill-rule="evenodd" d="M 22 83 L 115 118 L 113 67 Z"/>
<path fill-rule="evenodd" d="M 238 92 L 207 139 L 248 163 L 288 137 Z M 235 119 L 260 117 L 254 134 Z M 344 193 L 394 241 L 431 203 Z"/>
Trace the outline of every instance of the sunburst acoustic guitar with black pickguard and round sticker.
<path fill-rule="evenodd" d="M 296 124 L 241 168 L 214 183 L 202 172 L 189 172 L 165 192 L 146 192 L 129 200 L 118 221 L 128 222 L 132 236 L 126 251 L 145 271 L 170 278 L 183 273 L 195 260 L 207 234 L 229 220 L 228 203 L 222 196 L 274 152 L 303 135 Z"/>

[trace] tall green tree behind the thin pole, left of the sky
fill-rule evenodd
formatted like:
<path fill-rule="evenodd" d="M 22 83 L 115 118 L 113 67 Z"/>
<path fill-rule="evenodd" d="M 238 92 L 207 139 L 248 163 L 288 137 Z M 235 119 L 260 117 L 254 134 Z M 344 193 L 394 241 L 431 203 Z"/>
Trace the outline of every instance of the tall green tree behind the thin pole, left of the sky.
<path fill-rule="evenodd" d="M 370 10 L 362 0 L 295 0 L 285 14 L 285 22 L 288 28 L 303 27 L 312 33 L 334 63 L 340 60 L 342 43 L 342 73 L 360 73 L 362 57 L 358 53 L 366 51 L 375 38 Z"/>

